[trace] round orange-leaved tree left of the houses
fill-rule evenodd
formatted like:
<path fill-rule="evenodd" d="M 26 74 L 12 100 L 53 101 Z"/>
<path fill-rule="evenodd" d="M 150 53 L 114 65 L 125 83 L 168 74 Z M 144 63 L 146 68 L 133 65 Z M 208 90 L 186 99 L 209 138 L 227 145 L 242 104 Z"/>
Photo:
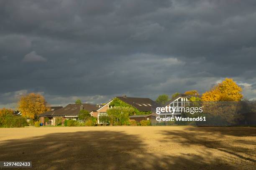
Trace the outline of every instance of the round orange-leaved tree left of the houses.
<path fill-rule="evenodd" d="M 18 109 L 20 110 L 23 117 L 35 119 L 35 116 L 49 111 L 49 108 L 46 107 L 46 104 L 47 102 L 44 99 L 44 96 L 36 93 L 30 93 L 20 97 L 20 101 L 18 102 Z"/>

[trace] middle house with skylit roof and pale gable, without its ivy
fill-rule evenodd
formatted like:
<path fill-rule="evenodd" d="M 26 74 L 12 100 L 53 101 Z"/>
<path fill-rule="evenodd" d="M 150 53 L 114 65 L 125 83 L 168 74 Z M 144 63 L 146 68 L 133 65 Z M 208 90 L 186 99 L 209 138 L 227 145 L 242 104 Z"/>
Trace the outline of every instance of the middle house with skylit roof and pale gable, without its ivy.
<path fill-rule="evenodd" d="M 118 98 L 118 99 L 122 100 L 123 102 L 135 107 L 136 109 L 138 109 L 141 112 L 155 113 L 156 107 L 159 107 L 159 105 L 155 101 L 151 100 L 150 98 L 127 97 L 126 95 L 123 95 L 122 97 L 116 97 L 116 98 Z M 99 116 L 102 115 L 102 114 L 107 114 L 108 109 L 111 108 L 110 103 L 112 101 L 113 100 L 111 100 L 110 102 L 108 102 L 104 106 L 100 107 L 98 110 L 90 112 L 90 114 L 92 116 L 97 117 L 98 123 L 100 123 Z M 144 116 L 146 116 L 146 115 L 144 115 Z M 134 117 L 131 117 L 131 119 L 133 119 L 133 118 Z M 147 120 L 147 118 L 151 119 L 151 118 L 153 118 L 153 116 L 143 117 L 143 118 L 141 117 L 140 119 Z M 139 118 L 137 117 L 134 120 L 139 120 Z"/>

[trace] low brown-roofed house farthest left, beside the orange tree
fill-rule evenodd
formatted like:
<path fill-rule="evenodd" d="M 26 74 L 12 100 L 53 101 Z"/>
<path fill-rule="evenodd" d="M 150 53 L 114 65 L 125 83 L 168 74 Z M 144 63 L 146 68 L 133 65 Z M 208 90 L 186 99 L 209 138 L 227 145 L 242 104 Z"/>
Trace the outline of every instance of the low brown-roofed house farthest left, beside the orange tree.
<path fill-rule="evenodd" d="M 93 112 L 95 110 L 99 109 L 99 106 L 97 105 L 91 105 L 91 104 L 69 104 L 66 107 L 56 108 L 56 110 L 53 108 L 49 112 L 45 112 L 41 115 L 39 115 L 41 122 L 44 122 L 44 119 L 46 117 L 49 118 L 49 124 L 55 125 L 55 119 L 56 117 L 61 117 L 62 122 L 64 122 L 65 119 L 72 119 L 72 120 L 78 120 L 78 115 L 80 110 L 88 110 L 89 112 Z"/>

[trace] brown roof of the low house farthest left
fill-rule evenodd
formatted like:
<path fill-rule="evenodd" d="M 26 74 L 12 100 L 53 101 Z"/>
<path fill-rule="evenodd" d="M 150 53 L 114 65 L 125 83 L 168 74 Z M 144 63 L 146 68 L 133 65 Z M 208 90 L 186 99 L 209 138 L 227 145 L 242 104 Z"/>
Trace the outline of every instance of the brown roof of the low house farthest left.
<path fill-rule="evenodd" d="M 99 107 L 96 105 L 91 105 L 87 103 L 83 104 L 69 104 L 64 108 L 60 108 L 54 111 L 45 112 L 39 116 L 77 116 L 81 110 L 80 107 L 83 107 L 84 110 L 88 110 L 89 112 L 93 110 L 97 110 Z"/>

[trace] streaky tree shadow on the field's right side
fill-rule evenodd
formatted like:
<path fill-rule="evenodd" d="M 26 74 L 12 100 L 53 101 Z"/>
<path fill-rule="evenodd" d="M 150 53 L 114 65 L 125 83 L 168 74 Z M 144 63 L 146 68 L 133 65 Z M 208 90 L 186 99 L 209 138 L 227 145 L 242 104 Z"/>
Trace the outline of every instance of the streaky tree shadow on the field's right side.
<path fill-rule="evenodd" d="M 218 150 L 243 161 L 256 165 L 256 141 L 242 140 L 234 137 L 256 136 L 256 128 L 241 127 L 187 127 L 179 131 L 164 131 L 166 138 L 163 142 L 173 141 L 184 146 L 204 146 Z M 217 139 L 217 140 L 216 140 Z M 225 140 L 223 140 L 225 139 Z"/>

